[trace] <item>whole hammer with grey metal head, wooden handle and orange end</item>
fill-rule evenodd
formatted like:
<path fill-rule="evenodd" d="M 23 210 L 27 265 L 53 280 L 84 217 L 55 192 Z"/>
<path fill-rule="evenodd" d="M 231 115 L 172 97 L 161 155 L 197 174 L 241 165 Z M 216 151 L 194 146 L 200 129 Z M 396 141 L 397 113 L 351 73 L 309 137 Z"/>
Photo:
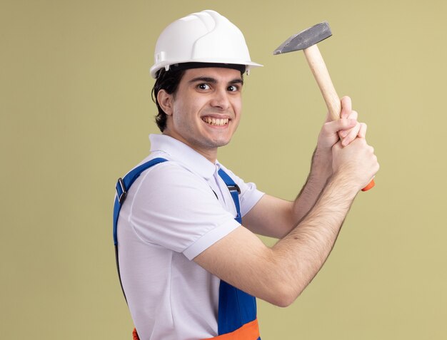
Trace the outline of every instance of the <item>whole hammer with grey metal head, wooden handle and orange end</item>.
<path fill-rule="evenodd" d="M 332 120 L 340 119 L 341 101 L 338 98 L 331 77 L 329 76 L 326 64 L 323 61 L 317 43 L 332 36 L 331 28 L 327 21 L 316 24 L 309 29 L 305 29 L 298 34 L 295 34 L 284 41 L 281 46 L 273 51 L 273 54 L 281 54 L 293 51 L 303 50 L 307 62 L 311 67 L 313 76 L 315 77 L 321 94 L 323 95 L 326 106 L 328 107 L 329 115 Z M 374 180 L 366 185 L 362 191 L 370 190 L 375 185 Z"/>

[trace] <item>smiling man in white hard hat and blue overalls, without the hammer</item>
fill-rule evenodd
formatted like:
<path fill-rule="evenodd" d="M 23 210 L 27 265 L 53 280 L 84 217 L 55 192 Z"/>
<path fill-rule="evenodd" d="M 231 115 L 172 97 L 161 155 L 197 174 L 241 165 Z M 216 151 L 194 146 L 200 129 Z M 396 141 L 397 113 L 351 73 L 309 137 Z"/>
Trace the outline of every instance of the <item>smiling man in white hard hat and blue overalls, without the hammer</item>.
<path fill-rule="evenodd" d="M 215 11 L 186 16 L 161 34 L 155 60 L 162 134 L 140 165 L 162 161 L 124 188 L 116 226 L 139 339 L 259 339 L 254 297 L 288 306 L 301 294 L 378 171 L 366 125 L 343 98 L 300 195 L 281 200 L 216 159 L 241 119 L 243 73 L 260 66 L 237 27 Z M 279 240 L 270 248 L 255 234 Z"/>

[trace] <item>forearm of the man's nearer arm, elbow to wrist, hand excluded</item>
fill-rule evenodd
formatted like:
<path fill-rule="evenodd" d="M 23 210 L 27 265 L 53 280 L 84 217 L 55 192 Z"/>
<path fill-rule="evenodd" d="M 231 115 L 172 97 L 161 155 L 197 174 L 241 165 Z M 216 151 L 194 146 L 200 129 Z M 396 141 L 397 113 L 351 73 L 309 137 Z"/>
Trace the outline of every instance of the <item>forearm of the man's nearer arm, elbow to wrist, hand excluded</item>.
<path fill-rule="evenodd" d="M 283 305 L 291 304 L 323 266 L 356 193 L 346 176 L 334 174 L 308 215 L 273 246 Z"/>

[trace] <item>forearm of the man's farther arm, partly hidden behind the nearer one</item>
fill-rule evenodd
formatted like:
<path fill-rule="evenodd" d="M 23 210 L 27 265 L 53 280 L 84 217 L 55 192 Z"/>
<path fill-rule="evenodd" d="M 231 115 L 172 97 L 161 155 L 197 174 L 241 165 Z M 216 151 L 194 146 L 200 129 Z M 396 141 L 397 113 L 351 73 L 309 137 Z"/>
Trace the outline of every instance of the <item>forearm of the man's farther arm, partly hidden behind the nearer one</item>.
<path fill-rule="evenodd" d="M 316 149 L 306 184 L 293 202 L 293 221 L 297 225 L 315 205 L 328 178 L 332 175 L 331 153 Z"/>

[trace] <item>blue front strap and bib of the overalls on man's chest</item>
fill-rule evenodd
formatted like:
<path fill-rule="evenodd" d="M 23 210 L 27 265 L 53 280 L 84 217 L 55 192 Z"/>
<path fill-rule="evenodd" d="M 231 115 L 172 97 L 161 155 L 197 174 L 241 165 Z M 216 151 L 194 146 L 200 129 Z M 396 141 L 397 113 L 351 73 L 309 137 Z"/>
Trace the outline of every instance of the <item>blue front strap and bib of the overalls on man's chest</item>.
<path fill-rule="evenodd" d="M 230 190 L 236 206 L 237 215 L 235 220 L 242 223 L 238 195 L 241 193 L 241 190 L 224 170 L 219 170 L 219 176 L 224 180 L 228 190 Z M 218 334 L 231 333 L 254 320 L 256 320 L 256 298 L 221 280 L 219 286 Z M 261 340 L 261 338 L 258 338 L 258 340 Z"/>

